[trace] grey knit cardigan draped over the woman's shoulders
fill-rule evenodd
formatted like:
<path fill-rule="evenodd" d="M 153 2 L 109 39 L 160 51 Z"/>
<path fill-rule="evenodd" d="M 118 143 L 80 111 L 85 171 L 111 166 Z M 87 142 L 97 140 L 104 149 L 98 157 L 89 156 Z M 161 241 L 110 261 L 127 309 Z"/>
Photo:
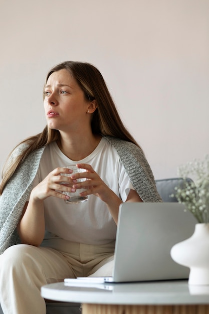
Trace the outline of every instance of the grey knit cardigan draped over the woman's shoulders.
<path fill-rule="evenodd" d="M 111 136 L 104 136 L 116 149 L 130 181 L 143 202 L 161 202 L 154 177 L 143 151 L 135 144 Z M 17 224 L 31 193 L 33 180 L 39 169 L 46 146 L 36 149 L 16 170 L 0 197 L 0 254 L 8 247 L 19 244 Z M 25 149 L 19 145 L 11 159 Z M 108 161 L 107 161 L 108 162 Z"/>

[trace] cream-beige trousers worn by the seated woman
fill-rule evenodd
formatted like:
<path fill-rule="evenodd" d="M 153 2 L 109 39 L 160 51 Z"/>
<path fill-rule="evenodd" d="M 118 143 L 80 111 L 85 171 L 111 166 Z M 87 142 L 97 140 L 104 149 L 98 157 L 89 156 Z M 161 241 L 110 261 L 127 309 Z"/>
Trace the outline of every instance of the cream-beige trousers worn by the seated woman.
<path fill-rule="evenodd" d="M 45 247 L 20 244 L 0 256 L 4 314 L 46 314 L 42 285 L 78 276 L 111 276 L 115 243 L 87 245 L 61 239 Z"/>

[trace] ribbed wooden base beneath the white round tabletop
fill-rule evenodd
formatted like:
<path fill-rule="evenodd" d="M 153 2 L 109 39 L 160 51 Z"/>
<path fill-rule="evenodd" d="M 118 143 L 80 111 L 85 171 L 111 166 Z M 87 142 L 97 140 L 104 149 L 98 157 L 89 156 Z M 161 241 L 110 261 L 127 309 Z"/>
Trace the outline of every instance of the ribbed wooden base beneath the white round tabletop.
<path fill-rule="evenodd" d="M 209 305 L 83 304 L 82 314 L 209 314 Z"/>

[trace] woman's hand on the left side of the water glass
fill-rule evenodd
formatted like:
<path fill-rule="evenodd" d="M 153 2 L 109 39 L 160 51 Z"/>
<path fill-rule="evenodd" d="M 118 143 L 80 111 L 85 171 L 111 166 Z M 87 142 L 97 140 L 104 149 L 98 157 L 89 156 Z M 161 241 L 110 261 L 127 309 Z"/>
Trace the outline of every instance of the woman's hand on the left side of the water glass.
<path fill-rule="evenodd" d="M 31 198 L 33 201 L 44 201 L 50 196 L 68 199 L 69 196 L 62 194 L 62 192 L 75 192 L 75 189 L 72 188 L 74 183 L 69 176 L 62 174 L 70 175 L 72 172 L 71 169 L 63 167 L 54 169 L 32 190 Z"/>

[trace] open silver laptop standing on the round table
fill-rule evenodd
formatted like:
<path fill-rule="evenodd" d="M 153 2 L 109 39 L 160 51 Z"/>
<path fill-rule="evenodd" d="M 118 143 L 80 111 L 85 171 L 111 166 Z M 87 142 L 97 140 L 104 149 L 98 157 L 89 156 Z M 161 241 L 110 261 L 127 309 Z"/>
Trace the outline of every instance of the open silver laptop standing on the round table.
<path fill-rule="evenodd" d="M 119 208 L 112 276 L 66 278 L 65 282 L 187 279 L 189 268 L 174 262 L 170 250 L 193 234 L 196 223 L 179 203 L 123 203 Z"/>

